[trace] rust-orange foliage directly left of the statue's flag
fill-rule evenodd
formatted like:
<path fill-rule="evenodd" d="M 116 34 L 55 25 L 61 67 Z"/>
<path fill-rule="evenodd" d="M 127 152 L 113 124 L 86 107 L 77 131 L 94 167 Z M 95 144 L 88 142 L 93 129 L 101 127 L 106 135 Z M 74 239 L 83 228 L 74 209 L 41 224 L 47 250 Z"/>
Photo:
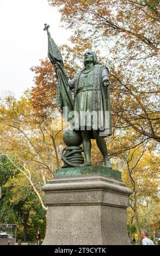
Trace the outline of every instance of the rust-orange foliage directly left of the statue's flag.
<path fill-rule="evenodd" d="M 29 98 L 36 116 L 41 120 L 51 119 L 58 106 L 56 105 L 56 74 L 51 62 L 40 60 L 40 65 L 30 68 L 34 72 L 34 86 L 29 92 Z"/>

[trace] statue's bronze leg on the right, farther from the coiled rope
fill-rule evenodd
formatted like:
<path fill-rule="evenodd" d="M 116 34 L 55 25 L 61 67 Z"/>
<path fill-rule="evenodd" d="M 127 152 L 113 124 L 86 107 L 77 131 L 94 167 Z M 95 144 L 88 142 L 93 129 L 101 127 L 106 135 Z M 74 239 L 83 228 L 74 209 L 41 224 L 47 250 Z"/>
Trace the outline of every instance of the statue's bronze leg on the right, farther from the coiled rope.
<path fill-rule="evenodd" d="M 109 157 L 108 157 L 108 153 L 107 153 L 107 145 L 106 145 L 105 139 L 99 135 L 98 131 L 93 131 L 93 136 L 96 139 L 97 146 L 99 147 L 99 149 L 103 155 L 104 166 L 106 166 L 108 168 L 112 168 L 112 164 L 109 161 Z"/>

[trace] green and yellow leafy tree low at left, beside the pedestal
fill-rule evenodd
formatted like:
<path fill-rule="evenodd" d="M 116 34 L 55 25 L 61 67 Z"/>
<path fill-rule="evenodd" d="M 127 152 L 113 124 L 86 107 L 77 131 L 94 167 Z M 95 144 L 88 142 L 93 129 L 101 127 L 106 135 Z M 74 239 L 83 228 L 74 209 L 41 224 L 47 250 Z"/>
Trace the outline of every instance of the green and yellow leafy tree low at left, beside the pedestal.
<path fill-rule="evenodd" d="M 42 235 L 45 231 L 45 211 L 38 197 L 26 177 L 6 156 L 0 156 L 0 173 L 0 222 L 16 223 L 17 239 L 35 241 L 36 230 Z"/>

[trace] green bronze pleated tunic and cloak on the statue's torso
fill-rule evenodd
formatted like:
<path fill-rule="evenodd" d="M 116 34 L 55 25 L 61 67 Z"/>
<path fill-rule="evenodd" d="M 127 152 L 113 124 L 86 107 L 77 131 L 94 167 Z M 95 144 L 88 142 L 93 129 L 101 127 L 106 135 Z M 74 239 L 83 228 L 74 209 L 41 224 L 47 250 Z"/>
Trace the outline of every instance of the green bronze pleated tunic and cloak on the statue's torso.
<path fill-rule="evenodd" d="M 109 77 L 106 66 L 96 64 L 94 68 L 83 70 L 69 82 L 69 86 L 74 88 L 74 110 L 78 113 L 75 115 L 76 128 L 103 131 L 103 137 L 111 135 Z"/>

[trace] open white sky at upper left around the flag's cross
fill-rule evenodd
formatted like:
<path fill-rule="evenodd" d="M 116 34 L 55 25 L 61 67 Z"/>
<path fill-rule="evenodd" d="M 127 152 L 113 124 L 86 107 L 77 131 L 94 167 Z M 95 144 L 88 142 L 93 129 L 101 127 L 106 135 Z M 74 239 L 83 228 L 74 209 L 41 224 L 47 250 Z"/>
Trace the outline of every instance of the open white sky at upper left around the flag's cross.
<path fill-rule="evenodd" d="M 33 86 L 29 68 L 47 57 L 47 33 L 50 24 L 56 44 L 64 44 L 71 33 L 59 27 L 60 14 L 47 0 L 0 0 L 0 91 L 11 90 L 20 97 Z"/>

